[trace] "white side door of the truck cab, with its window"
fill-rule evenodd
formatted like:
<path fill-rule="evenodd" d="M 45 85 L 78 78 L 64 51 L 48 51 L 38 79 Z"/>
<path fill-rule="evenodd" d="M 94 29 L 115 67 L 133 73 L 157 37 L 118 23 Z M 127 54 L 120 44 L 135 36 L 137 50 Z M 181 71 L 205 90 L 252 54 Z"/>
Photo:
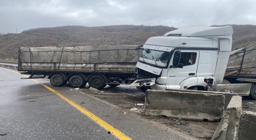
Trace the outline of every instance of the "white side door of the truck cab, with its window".
<path fill-rule="evenodd" d="M 176 50 L 168 66 L 168 85 L 179 85 L 188 77 L 195 77 L 198 67 L 199 51 L 196 50 Z M 183 68 L 178 68 L 177 64 L 183 64 Z M 194 81 L 197 82 L 197 81 Z"/>

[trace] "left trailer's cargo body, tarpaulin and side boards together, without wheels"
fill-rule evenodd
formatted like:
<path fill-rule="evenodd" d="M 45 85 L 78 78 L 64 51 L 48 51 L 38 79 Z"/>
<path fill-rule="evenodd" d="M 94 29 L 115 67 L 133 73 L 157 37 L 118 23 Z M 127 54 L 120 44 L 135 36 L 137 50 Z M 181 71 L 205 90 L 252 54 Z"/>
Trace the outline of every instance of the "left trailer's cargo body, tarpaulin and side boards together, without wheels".
<path fill-rule="evenodd" d="M 22 47 L 22 70 L 82 70 L 86 72 L 135 72 L 142 50 L 137 45 Z M 115 71 L 113 71 L 115 70 Z"/>

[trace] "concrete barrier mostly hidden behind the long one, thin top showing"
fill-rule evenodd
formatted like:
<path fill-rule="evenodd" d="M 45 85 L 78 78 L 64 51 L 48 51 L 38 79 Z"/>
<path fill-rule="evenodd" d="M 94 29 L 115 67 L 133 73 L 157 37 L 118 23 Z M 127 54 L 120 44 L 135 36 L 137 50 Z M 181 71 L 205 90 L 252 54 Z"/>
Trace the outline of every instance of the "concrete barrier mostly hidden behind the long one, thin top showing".
<path fill-rule="evenodd" d="M 237 95 L 237 93 L 212 92 L 212 91 L 201 91 L 201 90 L 177 90 L 177 89 L 166 89 L 166 90 L 167 91 L 184 91 L 184 92 L 208 93 L 208 94 L 223 94 L 225 96 L 224 110 L 227 109 L 228 103 L 230 102 L 232 96 Z"/>

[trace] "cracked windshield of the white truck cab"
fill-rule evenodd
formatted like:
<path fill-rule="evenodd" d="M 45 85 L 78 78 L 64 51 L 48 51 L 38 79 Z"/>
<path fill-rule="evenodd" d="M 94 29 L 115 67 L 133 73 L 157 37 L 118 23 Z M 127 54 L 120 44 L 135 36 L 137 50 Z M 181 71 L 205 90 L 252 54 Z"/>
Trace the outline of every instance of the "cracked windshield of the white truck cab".
<path fill-rule="evenodd" d="M 144 62 L 155 64 L 157 66 L 166 66 L 170 53 L 171 52 L 145 49 L 140 57 L 144 58 L 144 60 L 142 60 Z"/>

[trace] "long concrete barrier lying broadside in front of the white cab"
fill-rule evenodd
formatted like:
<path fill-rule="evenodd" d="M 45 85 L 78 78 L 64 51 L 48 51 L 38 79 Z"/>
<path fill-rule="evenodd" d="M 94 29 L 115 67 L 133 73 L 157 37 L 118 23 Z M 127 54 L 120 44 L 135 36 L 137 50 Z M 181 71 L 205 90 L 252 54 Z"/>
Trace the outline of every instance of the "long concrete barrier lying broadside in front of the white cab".
<path fill-rule="evenodd" d="M 147 90 L 145 113 L 209 122 L 220 121 L 224 111 L 224 95 L 185 91 Z"/>

